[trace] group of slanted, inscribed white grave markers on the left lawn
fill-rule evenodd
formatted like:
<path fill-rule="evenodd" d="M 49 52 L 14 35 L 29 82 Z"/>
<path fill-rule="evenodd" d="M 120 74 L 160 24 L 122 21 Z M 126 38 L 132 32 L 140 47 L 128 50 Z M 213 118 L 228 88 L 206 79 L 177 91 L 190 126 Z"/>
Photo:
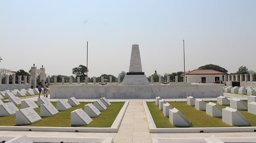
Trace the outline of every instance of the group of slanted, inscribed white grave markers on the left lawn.
<path fill-rule="evenodd" d="M 41 121 L 41 117 L 49 117 L 59 113 L 59 111 L 68 110 L 72 106 L 78 106 L 80 103 L 76 98 L 68 98 L 57 101 L 57 109 L 47 98 L 38 98 L 38 105 L 30 99 L 21 101 L 21 109 L 17 109 L 13 102 L 3 103 L 0 100 L 0 116 L 16 115 L 16 125 L 30 124 Z M 105 111 L 111 103 L 104 97 L 94 101 L 94 104 L 86 104 L 83 109 L 76 109 L 71 112 L 71 125 L 87 125 L 92 122 L 90 117 L 98 117 Z M 40 116 L 34 109 L 40 106 Z"/>

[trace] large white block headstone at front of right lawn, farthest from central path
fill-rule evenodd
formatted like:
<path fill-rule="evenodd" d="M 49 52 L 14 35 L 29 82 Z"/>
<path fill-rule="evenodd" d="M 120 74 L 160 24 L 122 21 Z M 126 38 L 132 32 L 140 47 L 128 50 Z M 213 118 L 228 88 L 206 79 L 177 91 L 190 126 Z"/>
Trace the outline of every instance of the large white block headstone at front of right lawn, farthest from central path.
<path fill-rule="evenodd" d="M 226 107 L 222 109 L 222 122 L 231 126 L 249 126 L 248 121 L 237 109 Z"/>

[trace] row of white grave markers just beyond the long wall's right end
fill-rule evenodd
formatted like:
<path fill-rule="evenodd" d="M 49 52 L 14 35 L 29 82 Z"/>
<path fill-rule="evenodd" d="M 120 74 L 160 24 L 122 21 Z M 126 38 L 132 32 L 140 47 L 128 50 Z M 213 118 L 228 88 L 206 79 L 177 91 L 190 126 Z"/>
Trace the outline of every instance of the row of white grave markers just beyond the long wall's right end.
<path fill-rule="evenodd" d="M 224 92 L 226 93 L 238 93 L 238 94 L 246 94 L 246 95 L 256 95 L 256 88 L 252 87 L 232 87 L 232 86 L 224 86 Z"/>

